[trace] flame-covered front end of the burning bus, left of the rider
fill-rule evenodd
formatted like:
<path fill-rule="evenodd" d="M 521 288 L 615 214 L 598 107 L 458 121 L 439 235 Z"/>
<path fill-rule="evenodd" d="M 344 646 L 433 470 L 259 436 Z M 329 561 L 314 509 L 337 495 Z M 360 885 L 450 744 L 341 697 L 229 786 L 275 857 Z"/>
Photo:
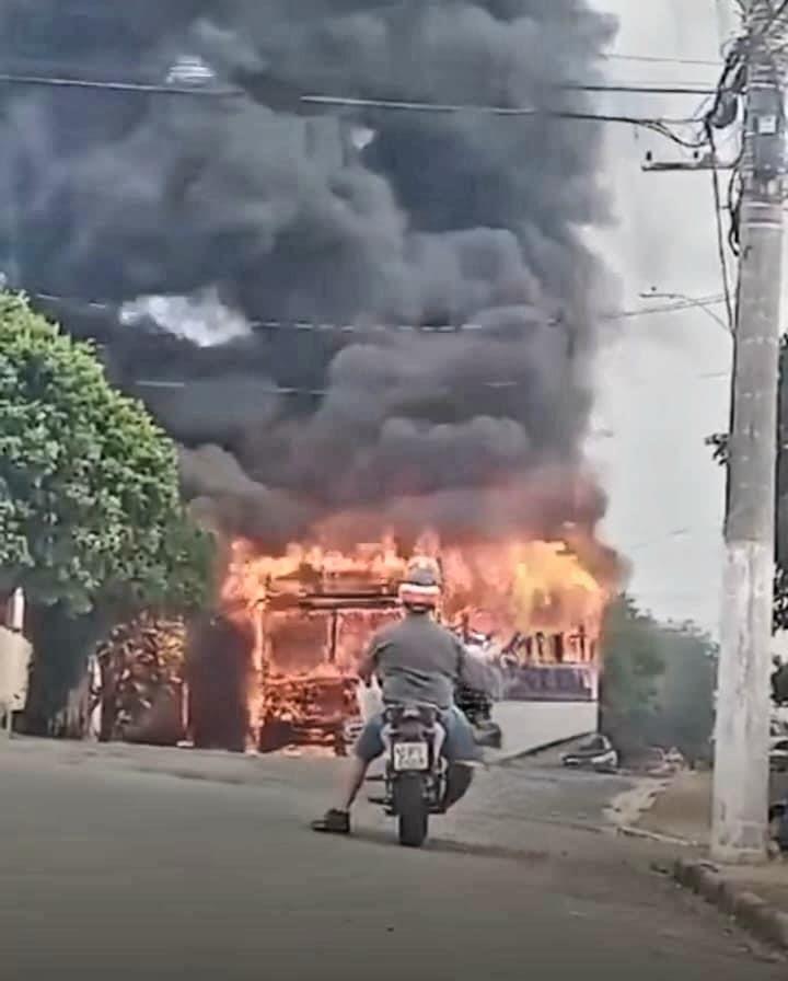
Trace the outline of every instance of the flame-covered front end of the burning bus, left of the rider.
<path fill-rule="evenodd" d="M 236 541 L 222 589 L 227 614 L 252 638 L 252 745 L 346 751 L 356 715 L 356 666 L 370 636 L 399 615 L 405 564 L 390 544 L 351 556 L 292 546 L 280 558 Z"/>

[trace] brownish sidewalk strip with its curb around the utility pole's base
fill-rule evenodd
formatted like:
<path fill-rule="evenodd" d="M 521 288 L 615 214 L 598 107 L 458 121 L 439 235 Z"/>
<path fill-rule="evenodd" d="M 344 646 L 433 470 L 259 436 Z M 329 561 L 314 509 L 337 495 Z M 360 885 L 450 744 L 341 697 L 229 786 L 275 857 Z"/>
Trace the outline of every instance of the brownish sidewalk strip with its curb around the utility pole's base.
<path fill-rule="evenodd" d="M 773 797 L 785 793 L 780 783 L 773 787 Z M 706 861 L 710 824 L 711 774 L 685 772 L 677 774 L 658 795 L 637 827 L 653 835 L 685 842 L 687 847 L 676 868 L 677 877 L 685 885 L 764 933 L 763 924 L 751 920 L 753 913 L 757 913 L 756 921 L 767 919 L 766 911 L 755 902 L 761 900 L 780 922 L 785 917 L 780 930 L 785 928 L 788 925 L 788 861 L 774 857 L 764 866 L 715 867 Z"/>

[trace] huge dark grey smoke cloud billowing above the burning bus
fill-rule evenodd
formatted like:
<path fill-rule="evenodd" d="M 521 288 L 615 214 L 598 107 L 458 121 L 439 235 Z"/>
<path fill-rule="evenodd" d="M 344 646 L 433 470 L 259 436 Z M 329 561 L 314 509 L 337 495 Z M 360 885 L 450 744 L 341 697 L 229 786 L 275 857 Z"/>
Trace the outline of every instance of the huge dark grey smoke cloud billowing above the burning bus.
<path fill-rule="evenodd" d="M 271 545 L 343 515 L 454 538 L 601 517 L 580 451 L 614 291 L 583 238 L 607 220 L 600 128 L 299 97 L 583 111 L 556 86 L 599 80 L 611 19 L 588 0 L 65 7 L 0 2 L 27 71 L 163 80 L 196 55 L 246 93 L 3 96 L 2 265 L 115 304 L 55 309 L 144 393 L 204 512 Z"/>

